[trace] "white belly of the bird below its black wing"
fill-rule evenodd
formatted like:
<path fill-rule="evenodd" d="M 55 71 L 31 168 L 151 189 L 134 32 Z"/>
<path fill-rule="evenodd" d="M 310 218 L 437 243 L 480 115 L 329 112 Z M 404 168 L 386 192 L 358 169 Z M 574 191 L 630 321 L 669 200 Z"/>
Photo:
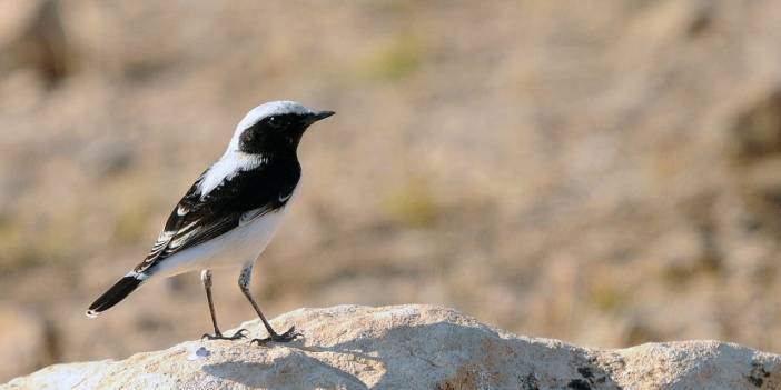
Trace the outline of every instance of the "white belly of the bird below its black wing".
<path fill-rule="evenodd" d="M 160 262 L 155 276 L 170 277 L 178 273 L 225 267 L 243 266 L 263 253 L 285 217 L 287 204 L 255 218 L 248 223 L 178 252 Z"/>

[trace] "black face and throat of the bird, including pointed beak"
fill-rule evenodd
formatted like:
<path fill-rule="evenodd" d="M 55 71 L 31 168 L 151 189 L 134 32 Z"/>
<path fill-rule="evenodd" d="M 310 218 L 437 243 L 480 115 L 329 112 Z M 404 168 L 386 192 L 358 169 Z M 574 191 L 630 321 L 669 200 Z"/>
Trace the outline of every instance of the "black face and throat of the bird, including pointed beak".
<path fill-rule="evenodd" d="M 239 150 L 245 153 L 295 156 L 298 142 L 309 124 L 330 117 L 333 112 L 284 113 L 266 117 L 239 136 Z"/>

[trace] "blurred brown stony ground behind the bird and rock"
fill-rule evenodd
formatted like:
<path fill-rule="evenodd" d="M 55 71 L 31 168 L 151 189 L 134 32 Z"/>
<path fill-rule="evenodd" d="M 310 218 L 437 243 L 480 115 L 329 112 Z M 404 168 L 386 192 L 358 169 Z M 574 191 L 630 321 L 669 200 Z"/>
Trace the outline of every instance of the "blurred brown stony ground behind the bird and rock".
<path fill-rule="evenodd" d="M 337 111 L 271 317 L 437 303 L 591 347 L 781 352 L 781 2 L 0 1 L 0 379 L 210 331 L 139 262 L 256 104 Z M 215 276 L 224 328 L 255 317 Z"/>

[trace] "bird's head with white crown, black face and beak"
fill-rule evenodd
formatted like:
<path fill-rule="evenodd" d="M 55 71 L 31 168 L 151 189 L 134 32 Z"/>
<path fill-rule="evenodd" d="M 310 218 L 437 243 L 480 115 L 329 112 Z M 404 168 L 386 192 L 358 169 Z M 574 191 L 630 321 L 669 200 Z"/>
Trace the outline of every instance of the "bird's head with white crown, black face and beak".
<path fill-rule="evenodd" d="M 295 101 L 271 101 L 260 104 L 241 119 L 228 151 L 250 154 L 295 153 L 304 131 L 334 111 L 308 109 Z"/>

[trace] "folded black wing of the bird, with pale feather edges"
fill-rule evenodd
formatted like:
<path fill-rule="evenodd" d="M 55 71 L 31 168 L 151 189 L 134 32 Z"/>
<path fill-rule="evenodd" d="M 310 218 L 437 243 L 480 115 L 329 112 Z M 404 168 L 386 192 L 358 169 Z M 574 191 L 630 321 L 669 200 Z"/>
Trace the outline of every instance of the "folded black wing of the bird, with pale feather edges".
<path fill-rule="evenodd" d="M 168 217 L 147 258 L 134 271 L 145 272 L 166 258 L 219 237 L 248 219 L 276 211 L 289 200 L 300 178 L 298 161 L 266 162 L 239 171 L 201 196 L 190 187 Z"/>

